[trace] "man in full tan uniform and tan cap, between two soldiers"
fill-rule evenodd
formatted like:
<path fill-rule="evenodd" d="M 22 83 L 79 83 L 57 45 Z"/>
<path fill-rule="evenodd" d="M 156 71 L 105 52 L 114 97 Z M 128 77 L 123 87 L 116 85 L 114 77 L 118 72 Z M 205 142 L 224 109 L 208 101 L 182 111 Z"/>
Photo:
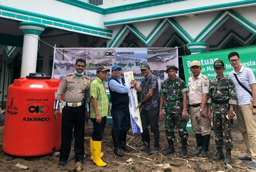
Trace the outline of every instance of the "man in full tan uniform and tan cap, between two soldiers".
<path fill-rule="evenodd" d="M 200 62 L 192 61 L 190 70 L 193 75 L 188 78 L 189 114 L 197 143 L 197 151 L 194 154 L 207 157 L 211 135 L 211 117 L 208 116 L 208 105 L 206 104 L 209 80 L 201 74 Z"/>

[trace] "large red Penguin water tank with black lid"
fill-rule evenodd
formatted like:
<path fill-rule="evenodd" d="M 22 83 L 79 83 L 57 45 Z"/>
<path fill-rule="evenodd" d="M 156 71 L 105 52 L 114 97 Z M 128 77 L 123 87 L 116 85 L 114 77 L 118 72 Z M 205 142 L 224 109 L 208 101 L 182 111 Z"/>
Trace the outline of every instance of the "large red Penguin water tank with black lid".
<path fill-rule="evenodd" d="M 33 73 L 8 87 L 3 151 L 15 156 L 56 152 L 61 143 L 61 115 L 53 117 L 60 79 Z"/>

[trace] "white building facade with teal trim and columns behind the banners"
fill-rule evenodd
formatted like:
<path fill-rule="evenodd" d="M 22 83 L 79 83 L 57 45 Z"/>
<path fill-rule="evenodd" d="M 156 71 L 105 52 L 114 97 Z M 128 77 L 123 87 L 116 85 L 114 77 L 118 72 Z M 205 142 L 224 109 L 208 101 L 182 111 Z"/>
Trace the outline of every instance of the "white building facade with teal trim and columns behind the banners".
<path fill-rule="evenodd" d="M 255 15 L 256 0 L 0 1 L 0 101 L 28 71 L 51 73 L 54 47 L 179 47 L 182 64 L 255 45 Z"/>

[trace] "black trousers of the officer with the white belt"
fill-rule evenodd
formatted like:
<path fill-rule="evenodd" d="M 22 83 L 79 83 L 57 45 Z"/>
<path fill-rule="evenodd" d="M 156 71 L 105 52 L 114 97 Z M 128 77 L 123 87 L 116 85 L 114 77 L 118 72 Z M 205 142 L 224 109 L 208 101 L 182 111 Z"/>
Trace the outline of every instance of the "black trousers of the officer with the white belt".
<path fill-rule="evenodd" d="M 75 136 L 75 158 L 76 160 L 84 159 L 85 146 L 85 107 L 68 107 L 65 106 L 62 110 L 61 123 L 61 146 L 60 146 L 60 161 L 66 162 L 71 150 L 72 132 L 74 127 Z"/>

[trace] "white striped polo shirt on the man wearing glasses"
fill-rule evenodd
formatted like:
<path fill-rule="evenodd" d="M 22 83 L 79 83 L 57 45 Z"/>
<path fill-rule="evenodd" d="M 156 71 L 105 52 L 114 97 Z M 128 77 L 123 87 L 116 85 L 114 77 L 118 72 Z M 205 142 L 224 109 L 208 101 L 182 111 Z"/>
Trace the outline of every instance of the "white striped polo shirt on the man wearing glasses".
<path fill-rule="evenodd" d="M 241 65 L 242 66 L 242 65 Z M 232 72 L 229 73 L 229 77 L 232 79 L 237 96 L 237 105 L 247 105 L 252 103 L 252 96 L 238 84 L 237 79 L 235 78 L 235 74 L 237 74 L 238 80 L 252 92 L 251 84 L 256 84 L 255 76 L 253 71 L 248 67 L 241 67 L 240 71 L 236 73 L 233 69 Z"/>

